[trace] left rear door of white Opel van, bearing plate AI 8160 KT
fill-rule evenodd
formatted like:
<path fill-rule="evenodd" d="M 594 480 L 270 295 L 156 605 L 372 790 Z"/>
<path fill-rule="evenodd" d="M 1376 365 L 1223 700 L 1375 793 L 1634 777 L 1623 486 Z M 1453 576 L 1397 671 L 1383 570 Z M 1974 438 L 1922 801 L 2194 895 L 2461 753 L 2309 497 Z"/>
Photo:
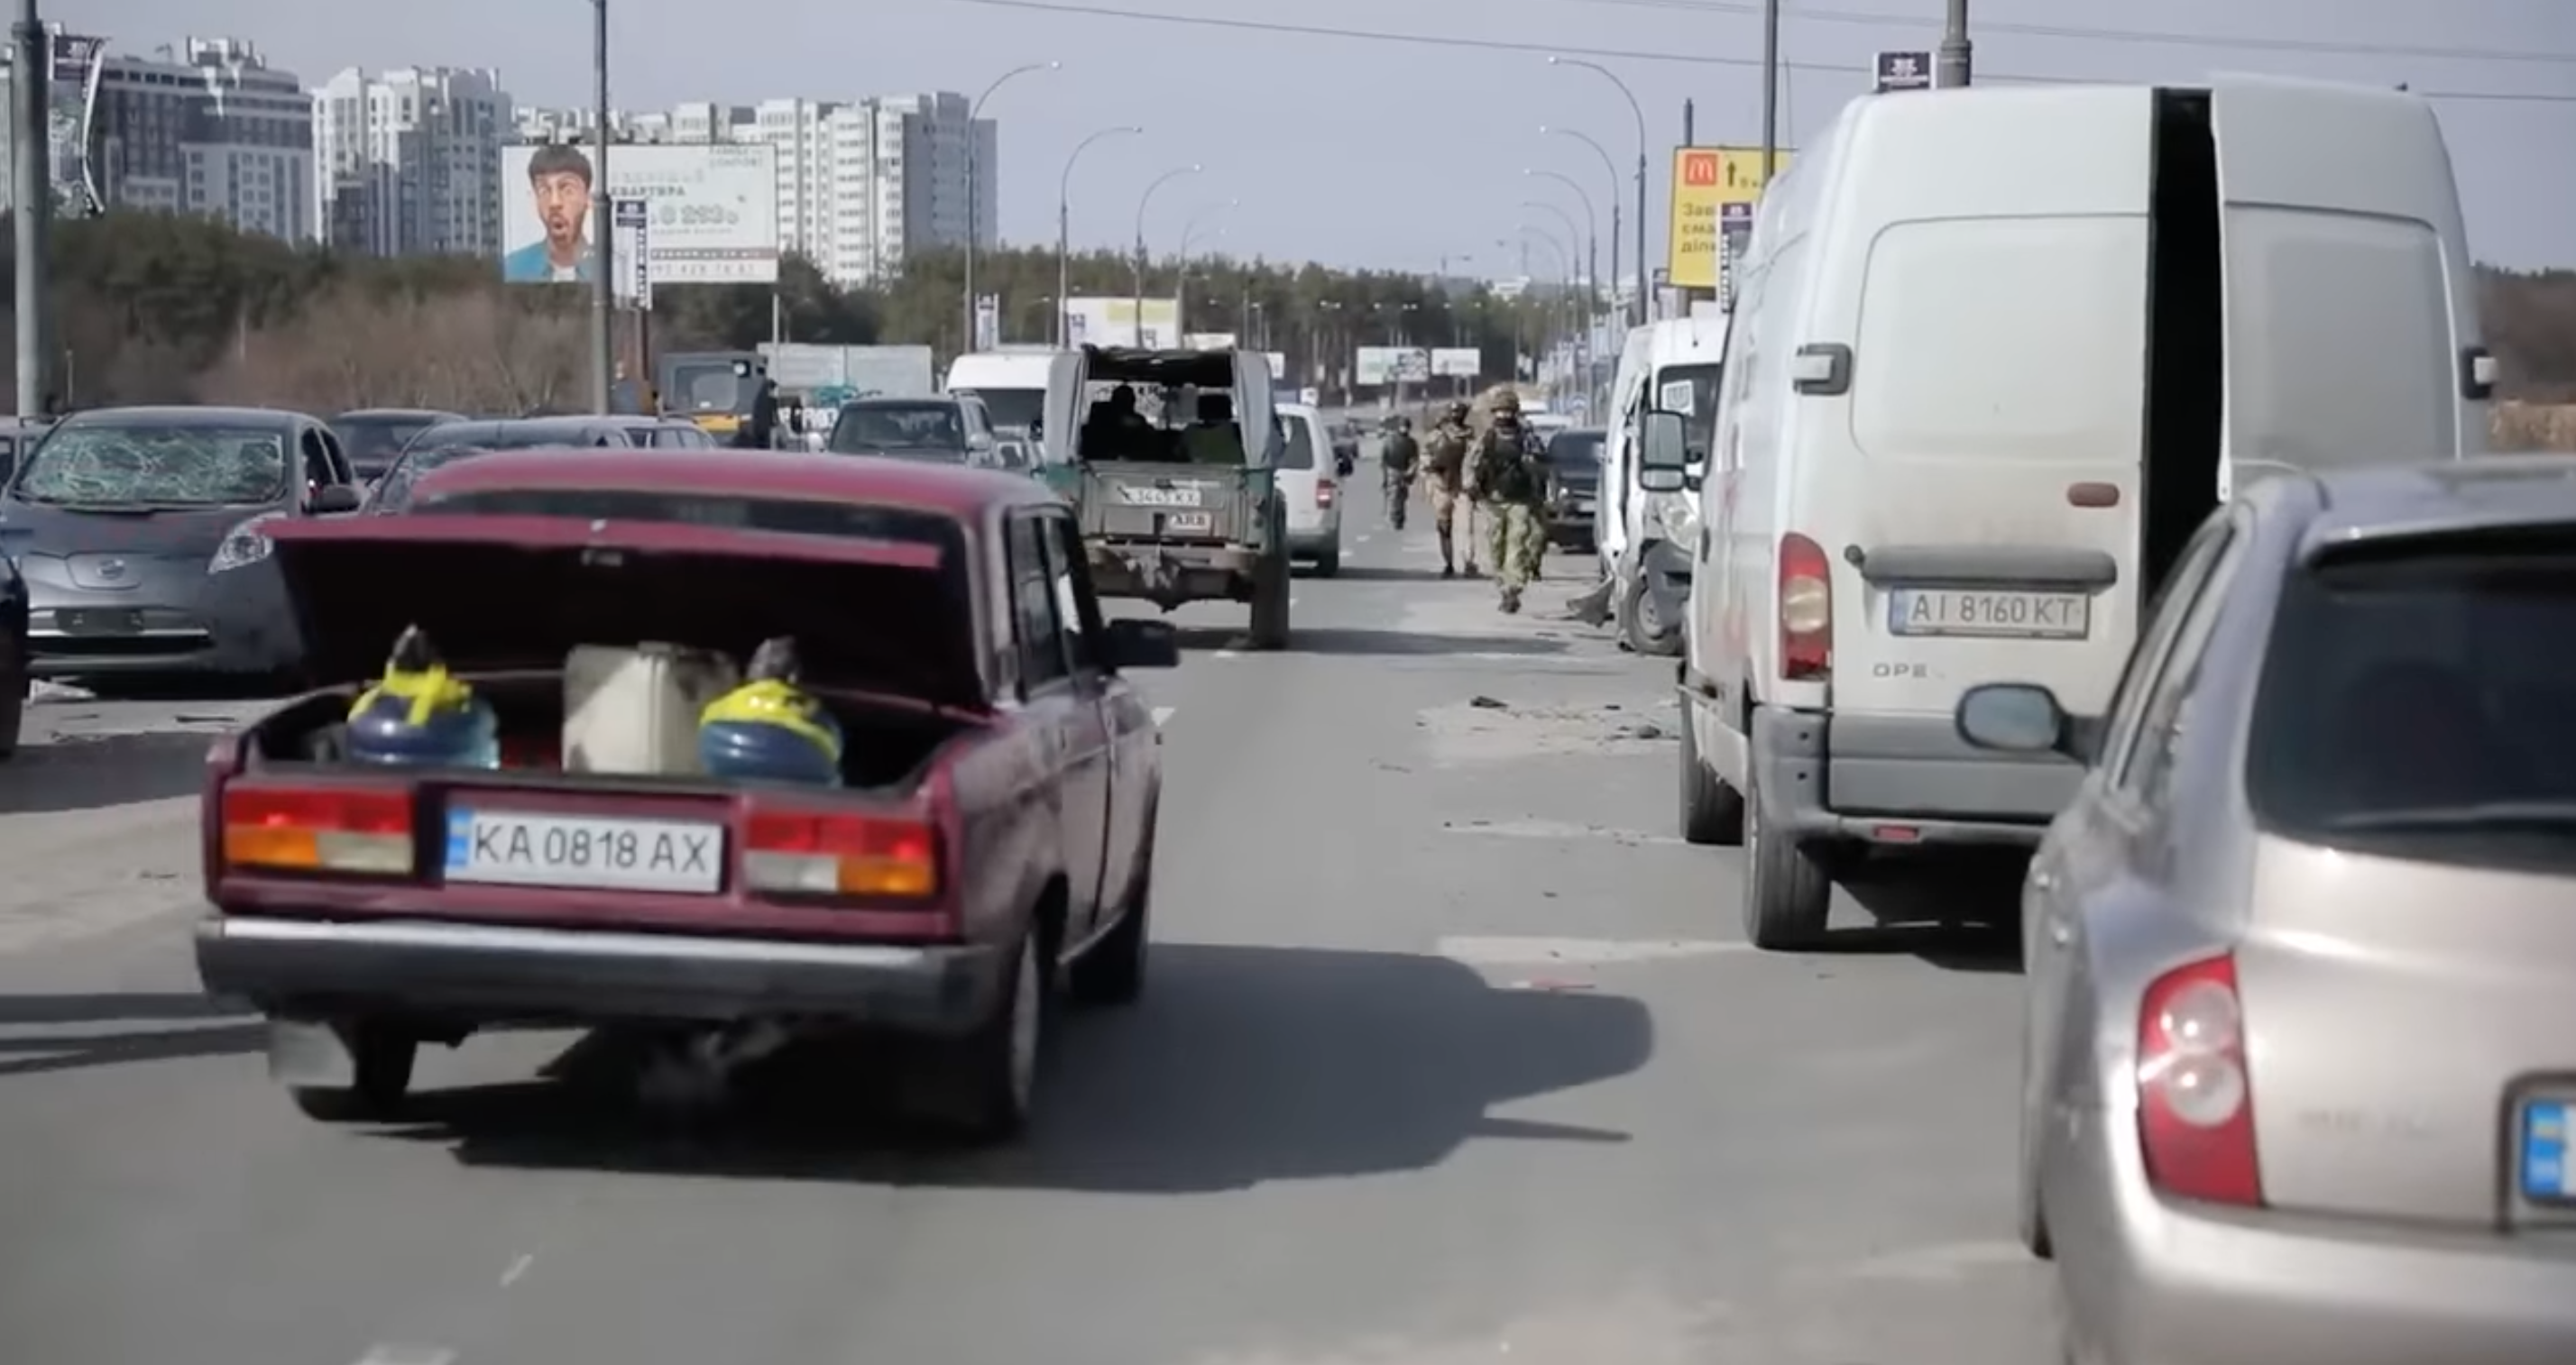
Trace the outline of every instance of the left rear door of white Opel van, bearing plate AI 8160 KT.
<path fill-rule="evenodd" d="M 1839 716 L 1945 716 L 1991 680 L 2099 713 L 2138 618 L 2151 98 L 2014 90 L 1868 118 L 1844 191 L 1844 240 L 1865 242 L 1847 422 L 1816 397 L 1834 379 L 1801 384 L 1819 407 L 1788 525 L 1811 538 L 1783 541 L 1780 574 L 1832 579 Z"/>

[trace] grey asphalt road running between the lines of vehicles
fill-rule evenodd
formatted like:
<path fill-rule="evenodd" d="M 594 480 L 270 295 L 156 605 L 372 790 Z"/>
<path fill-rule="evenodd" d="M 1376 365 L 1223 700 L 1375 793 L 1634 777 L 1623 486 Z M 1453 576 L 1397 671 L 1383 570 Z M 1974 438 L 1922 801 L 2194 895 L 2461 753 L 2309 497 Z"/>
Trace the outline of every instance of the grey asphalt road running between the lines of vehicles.
<path fill-rule="evenodd" d="M 1069 1020 L 1007 1151 L 665 1120 L 564 1035 L 317 1125 L 185 956 L 242 706 L 46 698 L 0 767 L 0 1360 L 2050 1360 L 2017 979 L 1904 930 L 1744 950 L 1734 852 L 1672 837 L 1669 662 L 1546 618 L 1577 559 L 1502 618 L 1370 505 L 1291 652 L 1185 613 L 1154 981 Z M 1844 914 L 2002 894 L 1906 886 Z"/>

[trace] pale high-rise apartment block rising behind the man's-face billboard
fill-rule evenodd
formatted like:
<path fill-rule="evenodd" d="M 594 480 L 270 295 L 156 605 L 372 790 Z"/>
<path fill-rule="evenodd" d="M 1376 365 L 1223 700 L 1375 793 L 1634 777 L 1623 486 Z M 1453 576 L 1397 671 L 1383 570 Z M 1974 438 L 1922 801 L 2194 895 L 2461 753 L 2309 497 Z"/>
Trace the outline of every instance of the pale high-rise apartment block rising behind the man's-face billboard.
<path fill-rule="evenodd" d="M 981 183 L 976 234 L 999 242 L 999 136 L 992 118 L 969 129 L 956 93 L 871 100 L 683 103 L 665 113 L 611 113 L 613 142 L 765 142 L 778 149 L 778 245 L 811 260 L 837 286 L 904 268 L 912 250 L 966 242 L 966 147 Z M 577 108 L 520 108 L 523 142 L 590 139 Z"/>

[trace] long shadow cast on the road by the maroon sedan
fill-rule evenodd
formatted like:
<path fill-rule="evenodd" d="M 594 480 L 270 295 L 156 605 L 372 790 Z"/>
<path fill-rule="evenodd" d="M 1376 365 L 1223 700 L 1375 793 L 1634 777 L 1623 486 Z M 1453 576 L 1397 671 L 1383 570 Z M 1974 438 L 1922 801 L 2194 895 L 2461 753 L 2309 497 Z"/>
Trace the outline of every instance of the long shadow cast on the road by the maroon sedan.
<path fill-rule="evenodd" d="M 896 1118 L 853 1046 L 747 1077 L 711 1120 L 639 1123 L 605 1077 L 430 1092 L 394 1133 L 459 1162 L 940 1187 L 1213 1192 L 1422 1169 L 1466 1141 L 1623 1144 L 1497 1107 L 1636 1071 L 1643 1004 L 1512 992 L 1448 958 L 1157 945 L 1146 999 L 1069 1012 L 1038 1123 L 974 1151 Z"/>

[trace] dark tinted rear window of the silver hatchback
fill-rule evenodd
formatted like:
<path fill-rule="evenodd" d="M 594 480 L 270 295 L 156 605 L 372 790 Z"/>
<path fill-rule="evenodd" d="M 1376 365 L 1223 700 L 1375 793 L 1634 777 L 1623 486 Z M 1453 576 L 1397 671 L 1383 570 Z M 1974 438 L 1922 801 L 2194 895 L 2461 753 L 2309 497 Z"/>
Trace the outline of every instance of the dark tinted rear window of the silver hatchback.
<path fill-rule="evenodd" d="M 2576 855 L 2571 541 L 2375 546 L 2293 574 L 2257 693 L 2257 819 L 2432 858 Z"/>

